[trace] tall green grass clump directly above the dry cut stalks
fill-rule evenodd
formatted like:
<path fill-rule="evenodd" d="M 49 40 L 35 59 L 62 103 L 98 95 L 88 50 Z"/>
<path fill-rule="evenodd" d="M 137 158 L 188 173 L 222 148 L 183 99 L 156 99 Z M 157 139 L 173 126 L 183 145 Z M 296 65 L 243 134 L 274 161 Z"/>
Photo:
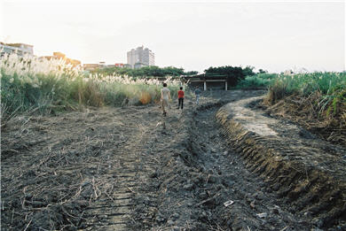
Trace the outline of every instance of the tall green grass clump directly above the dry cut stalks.
<path fill-rule="evenodd" d="M 346 114 L 346 73 L 280 74 L 270 85 L 265 101 L 275 104 L 280 99 L 293 95 L 310 98 L 310 103 L 306 106 L 311 107 L 315 116 L 339 119 L 341 127 L 346 125 L 346 120 L 342 117 Z"/>

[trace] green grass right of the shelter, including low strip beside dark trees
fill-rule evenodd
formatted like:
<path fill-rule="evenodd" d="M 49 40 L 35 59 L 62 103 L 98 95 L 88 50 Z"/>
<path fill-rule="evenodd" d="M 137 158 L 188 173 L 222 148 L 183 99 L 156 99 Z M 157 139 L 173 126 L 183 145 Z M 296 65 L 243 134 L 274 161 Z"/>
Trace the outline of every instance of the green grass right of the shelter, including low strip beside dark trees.
<path fill-rule="evenodd" d="M 346 102 L 346 73 L 259 73 L 246 77 L 237 87 L 268 88 L 267 100 L 271 104 L 286 96 L 318 95 L 316 104 L 321 111 L 326 111 L 326 115 L 336 113 L 338 105 L 343 107 Z"/>

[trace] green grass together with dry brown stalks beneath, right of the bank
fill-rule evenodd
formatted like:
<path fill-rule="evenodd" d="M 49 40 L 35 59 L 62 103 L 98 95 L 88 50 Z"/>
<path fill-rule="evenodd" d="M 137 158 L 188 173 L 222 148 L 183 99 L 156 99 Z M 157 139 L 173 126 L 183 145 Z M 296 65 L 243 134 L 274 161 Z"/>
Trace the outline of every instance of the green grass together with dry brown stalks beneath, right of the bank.
<path fill-rule="evenodd" d="M 346 145 L 346 73 L 278 75 L 264 104 L 327 141 Z"/>

